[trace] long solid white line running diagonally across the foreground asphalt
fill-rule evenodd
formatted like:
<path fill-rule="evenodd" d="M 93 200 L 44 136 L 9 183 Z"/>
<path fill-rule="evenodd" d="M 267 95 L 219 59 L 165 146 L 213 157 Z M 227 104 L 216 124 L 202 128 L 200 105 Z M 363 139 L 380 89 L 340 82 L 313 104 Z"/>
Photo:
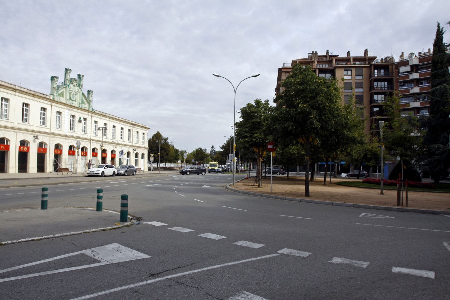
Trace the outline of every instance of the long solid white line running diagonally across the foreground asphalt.
<path fill-rule="evenodd" d="M 107 295 L 107 294 L 110 294 L 110 293 L 113 293 L 113 292 L 116 292 L 116 291 L 125 290 L 125 289 L 128 289 L 128 288 L 138 287 L 138 286 L 142 286 L 142 285 L 145 285 L 145 284 L 151 284 L 153 282 L 158 282 L 158 281 L 165 280 L 165 279 L 176 278 L 176 277 L 180 277 L 180 276 L 185 276 L 185 275 L 190 275 L 190 274 L 194 274 L 194 273 L 198 273 L 198 272 L 203 272 L 203 271 L 216 269 L 216 268 L 219 268 L 219 267 L 225 267 L 225 266 L 229 266 L 229 265 L 235 265 L 235 264 L 240 264 L 240 263 L 244 263 L 244 262 L 250 262 L 250 261 L 259 260 L 259 259 L 271 258 L 271 257 L 275 257 L 275 256 L 278 256 L 278 255 L 279 254 L 271 254 L 271 255 L 260 256 L 260 257 L 255 257 L 255 258 L 250 258 L 250 259 L 245 259 L 245 260 L 240 260 L 240 261 L 234 261 L 234 262 L 228 262 L 228 263 L 224 263 L 224 264 L 208 266 L 208 267 L 201 268 L 201 269 L 196 269 L 196 270 L 187 271 L 187 272 L 183 272 L 183 273 L 173 274 L 173 275 L 170 275 L 170 276 L 165 276 L 165 277 L 160 277 L 160 278 L 156 278 L 156 279 L 152 279 L 152 280 L 142 281 L 142 282 L 138 282 L 138 283 L 134 283 L 134 284 L 130 284 L 130 285 L 125 285 L 125 286 L 121 286 L 121 287 L 117 287 L 117 288 L 112 288 L 112 289 L 108 289 L 108 290 L 105 290 L 105 291 L 97 292 L 97 293 L 94 293 L 94 294 L 82 296 L 82 297 L 79 297 L 79 298 L 74 298 L 72 300 L 90 299 L 90 298 L 94 298 L 94 297 L 98 297 L 98 296 Z"/>

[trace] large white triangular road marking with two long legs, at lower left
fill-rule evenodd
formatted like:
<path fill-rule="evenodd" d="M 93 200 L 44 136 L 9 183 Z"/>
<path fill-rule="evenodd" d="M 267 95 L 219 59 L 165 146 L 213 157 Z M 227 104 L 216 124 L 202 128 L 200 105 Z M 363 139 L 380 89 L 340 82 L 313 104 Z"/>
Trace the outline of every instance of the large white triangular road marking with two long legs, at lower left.
<path fill-rule="evenodd" d="M 105 264 L 119 263 L 119 262 L 125 262 L 125 261 L 130 261 L 130 260 L 151 257 L 146 254 L 137 252 L 133 249 L 119 245 L 118 243 L 112 243 L 112 244 L 109 244 L 106 246 L 101 246 L 101 247 L 97 247 L 97 248 L 92 248 L 92 249 L 88 249 L 88 250 L 83 250 L 83 251 L 79 251 L 79 252 L 74 252 L 74 253 L 70 253 L 70 254 L 56 256 L 56 257 L 49 258 L 49 259 L 44 259 L 44 260 L 40 260 L 40 261 L 36 261 L 36 262 L 32 262 L 32 263 L 27 263 L 27 264 L 11 267 L 8 269 L 0 270 L 0 273 L 9 272 L 9 271 L 17 270 L 17 269 L 24 268 L 27 266 L 50 262 L 50 261 L 53 261 L 56 259 L 66 258 L 69 256 L 78 255 L 78 254 L 85 254 L 96 260 L 99 260 L 100 262 L 88 264 L 88 265 L 76 266 L 76 267 L 68 267 L 68 268 L 63 268 L 63 269 L 59 269 L 59 270 L 40 272 L 40 273 L 34 273 L 34 274 L 29 274 L 29 275 L 17 276 L 17 277 L 4 278 L 4 279 L 0 279 L 0 282 L 6 282 L 6 281 L 12 281 L 12 280 L 18 280 L 18 279 L 24 279 L 24 278 L 30 278 L 30 277 L 37 277 L 37 276 L 42 276 L 42 275 L 56 274 L 56 273 L 80 270 L 80 269 L 85 269 L 85 268 L 90 268 L 90 267 L 95 267 L 95 266 L 100 266 L 100 265 L 105 265 Z"/>

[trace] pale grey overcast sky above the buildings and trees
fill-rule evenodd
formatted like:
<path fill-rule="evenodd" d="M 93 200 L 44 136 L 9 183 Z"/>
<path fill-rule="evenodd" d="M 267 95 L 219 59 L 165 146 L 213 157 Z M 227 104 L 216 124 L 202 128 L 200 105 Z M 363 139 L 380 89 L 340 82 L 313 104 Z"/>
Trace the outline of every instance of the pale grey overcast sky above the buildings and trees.
<path fill-rule="evenodd" d="M 234 116 L 231 84 L 212 73 L 234 86 L 260 74 L 239 86 L 236 110 L 273 103 L 284 62 L 365 48 L 398 61 L 432 48 L 449 12 L 448 0 L 0 0 L 0 80 L 49 94 L 50 76 L 70 68 L 95 110 L 209 151 Z"/>

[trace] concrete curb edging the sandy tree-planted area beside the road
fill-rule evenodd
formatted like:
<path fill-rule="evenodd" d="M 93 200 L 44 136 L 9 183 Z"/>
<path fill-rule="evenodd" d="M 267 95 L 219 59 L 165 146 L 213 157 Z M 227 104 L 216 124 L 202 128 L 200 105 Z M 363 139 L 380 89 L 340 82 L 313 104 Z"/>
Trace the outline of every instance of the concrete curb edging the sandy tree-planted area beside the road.
<path fill-rule="evenodd" d="M 240 179 L 236 182 L 239 182 Z M 232 184 L 232 183 L 230 183 Z M 345 206 L 345 207 L 353 207 L 353 208 L 364 208 L 364 209 L 374 209 L 374 210 L 386 210 L 386 211 L 400 211 L 400 212 L 415 212 L 415 213 L 427 213 L 427 214 L 446 214 L 450 215 L 450 211 L 442 211 L 442 210 L 431 210 L 431 209 L 418 209 L 418 208 L 406 208 L 406 207 L 391 207 L 391 206 L 375 206 L 375 205 L 366 205 L 366 204 L 354 204 L 354 203 L 342 203 L 342 202 L 332 202 L 332 201 L 320 201 L 320 200 L 311 200 L 311 199 L 302 199 L 302 198 L 289 198 L 289 197 L 281 197 L 274 196 L 262 193 L 256 193 L 251 191 L 237 190 L 235 188 L 230 187 L 230 184 L 225 185 L 225 189 L 245 195 L 256 196 L 256 197 L 264 197 L 270 199 L 284 200 L 284 201 L 293 201 L 293 202 L 303 202 L 303 203 L 311 203 L 311 204 L 322 204 L 322 205 L 330 205 L 330 206 Z"/>

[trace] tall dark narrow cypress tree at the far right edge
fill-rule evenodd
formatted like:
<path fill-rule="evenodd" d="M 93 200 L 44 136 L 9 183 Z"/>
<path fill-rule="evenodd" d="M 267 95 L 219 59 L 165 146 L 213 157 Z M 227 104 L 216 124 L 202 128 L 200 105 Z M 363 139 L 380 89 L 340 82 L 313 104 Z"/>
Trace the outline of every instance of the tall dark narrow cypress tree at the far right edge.
<path fill-rule="evenodd" d="M 448 173 L 450 166 L 450 54 L 443 41 L 445 30 L 437 23 L 431 62 L 430 111 L 426 119 L 424 137 L 423 170 L 434 182 Z"/>

